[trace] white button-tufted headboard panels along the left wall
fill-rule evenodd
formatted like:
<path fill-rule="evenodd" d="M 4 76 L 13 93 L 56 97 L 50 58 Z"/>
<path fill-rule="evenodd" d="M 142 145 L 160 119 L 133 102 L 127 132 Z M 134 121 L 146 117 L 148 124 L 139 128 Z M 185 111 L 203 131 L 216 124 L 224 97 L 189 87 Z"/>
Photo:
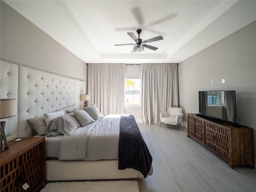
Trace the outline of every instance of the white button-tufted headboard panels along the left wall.
<path fill-rule="evenodd" d="M 9 126 L 9 122 L 6 122 L 5 132 L 8 140 L 34 135 L 34 130 L 27 122 L 29 118 L 42 116 L 45 112 L 54 112 L 74 103 L 78 108 L 82 106 L 79 97 L 80 94 L 85 93 L 83 81 L 3 61 L 1 61 L 0 73 L 0 98 L 18 99 L 18 116 L 16 116 L 17 120 L 14 120 L 16 132 Z M 10 75 L 14 73 L 16 77 Z M 2 76 L 7 76 L 8 80 L 2 81 Z M 5 93 L 2 94 L 2 88 L 7 92 L 10 92 L 9 90 L 16 92 L 16 95 L 5 96 Z M 13 130 L 13 133 L 10 134 L 9 130 Z"/>

